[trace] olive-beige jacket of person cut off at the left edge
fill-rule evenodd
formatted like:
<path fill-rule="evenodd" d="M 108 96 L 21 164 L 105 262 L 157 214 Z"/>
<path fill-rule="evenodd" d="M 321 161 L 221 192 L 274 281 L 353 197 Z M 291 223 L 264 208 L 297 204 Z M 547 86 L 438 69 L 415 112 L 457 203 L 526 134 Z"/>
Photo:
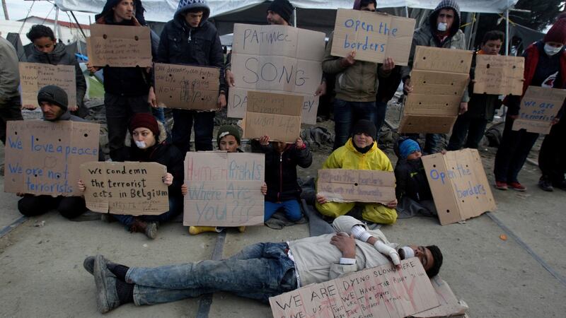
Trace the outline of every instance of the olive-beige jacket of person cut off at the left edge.
<path fill-rule="evenodd" d="M 20 70 L 18 69 L 18 55 L 13 45 L 0 37 L 0 106 L 11 98 L 19 97 Z"/>

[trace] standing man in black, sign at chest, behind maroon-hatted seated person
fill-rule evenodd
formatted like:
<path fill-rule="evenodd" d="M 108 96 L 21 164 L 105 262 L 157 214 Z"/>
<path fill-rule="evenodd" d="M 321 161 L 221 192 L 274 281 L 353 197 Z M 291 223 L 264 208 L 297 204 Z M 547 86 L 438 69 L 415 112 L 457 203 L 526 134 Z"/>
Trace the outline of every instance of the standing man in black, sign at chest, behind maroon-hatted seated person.
<path fill-rule="evenodd" d="M 97 24 L 143 26 L 146 25 L 144 11 L 141 0 L 107 0 L 102 13 L 97 14 L 95 18 Z M 156 53 L 153 51 L 152 45 L 151 53 L 155 56 Z M 99 69 L 91 64 L 87 65 L 91 73 Z M 103 71 L 110 158 L 114 161 L 123 161 L 122 148 L 127 131 L 125 123 L 134 114 L 151 113 L 148 102 L 151 69 L 105 66 Z"/>

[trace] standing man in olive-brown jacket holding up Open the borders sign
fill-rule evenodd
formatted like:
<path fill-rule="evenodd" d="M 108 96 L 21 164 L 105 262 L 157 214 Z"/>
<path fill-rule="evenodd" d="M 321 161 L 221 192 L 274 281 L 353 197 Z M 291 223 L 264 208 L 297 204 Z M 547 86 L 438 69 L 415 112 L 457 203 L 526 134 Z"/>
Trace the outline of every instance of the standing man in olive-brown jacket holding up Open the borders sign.
<path fill-rule="evenodd" d="M 376 0 L 357 0 L 354 10 L 376 11 Z M 331 54 L 334 33 L 326 45 L 323 59 L 323 71 L 336 74 L 334 99 L 334 149 L 344 146 L 350 137 L 352 124 L 360 119 L 376 124 L 376 93 L 381 78 L 389 76 L 395 62 L 386 58 L 383 65 L 369 61 L 356 61 L 356 52 L 347 57 L 335 57 Z"/>

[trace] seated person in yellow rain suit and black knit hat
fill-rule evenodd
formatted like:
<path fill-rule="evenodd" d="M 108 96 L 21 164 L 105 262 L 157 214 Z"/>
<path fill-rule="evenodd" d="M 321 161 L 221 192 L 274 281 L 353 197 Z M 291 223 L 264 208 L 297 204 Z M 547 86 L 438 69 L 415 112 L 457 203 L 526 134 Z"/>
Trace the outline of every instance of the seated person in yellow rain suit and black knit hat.
<path fill-rule="evenodd" d="M 353 169 L 393 171 L 393 166 L 383 151 L 377 148 L 375 141 L 376 126 L 369 120 L 362 119 L 352 126 L 352 138 L 337 148 L 326 159 L 323 169 Z M 350 212 L 356 204 L 362 206 L 362 218 L 373 223 L 393 224 L 397 220 L 397 200 L 387 205 L 379 203 L 329 202 L 320 194 L 316 195 L 316 208 L 324 216 L 337 218 Z"/>

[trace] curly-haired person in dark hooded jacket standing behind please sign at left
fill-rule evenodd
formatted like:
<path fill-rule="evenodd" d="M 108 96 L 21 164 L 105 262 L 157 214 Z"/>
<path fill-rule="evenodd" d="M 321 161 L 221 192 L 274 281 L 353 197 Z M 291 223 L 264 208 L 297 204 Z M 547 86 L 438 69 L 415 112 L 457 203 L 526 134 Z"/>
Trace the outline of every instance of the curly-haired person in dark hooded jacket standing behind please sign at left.
<path fill-rule="evenodd" d="M 86 117 L 88 110 L 83 103 L 86 93 L 86 80 L 84 79 L 81 66 L 79 66 L 79 62 L 76 61 L 74 55 L 67 52 L 67 47 L 64 43 L 57 43 L 53 30 L 48 26 L 33 25 L 26 36 L 33 43 L 32 54 L 28 57 L 28 62 L 75 67 L 76 105 L 69 105 L 69 110 L 71 114 L 81 118 Z"/>

